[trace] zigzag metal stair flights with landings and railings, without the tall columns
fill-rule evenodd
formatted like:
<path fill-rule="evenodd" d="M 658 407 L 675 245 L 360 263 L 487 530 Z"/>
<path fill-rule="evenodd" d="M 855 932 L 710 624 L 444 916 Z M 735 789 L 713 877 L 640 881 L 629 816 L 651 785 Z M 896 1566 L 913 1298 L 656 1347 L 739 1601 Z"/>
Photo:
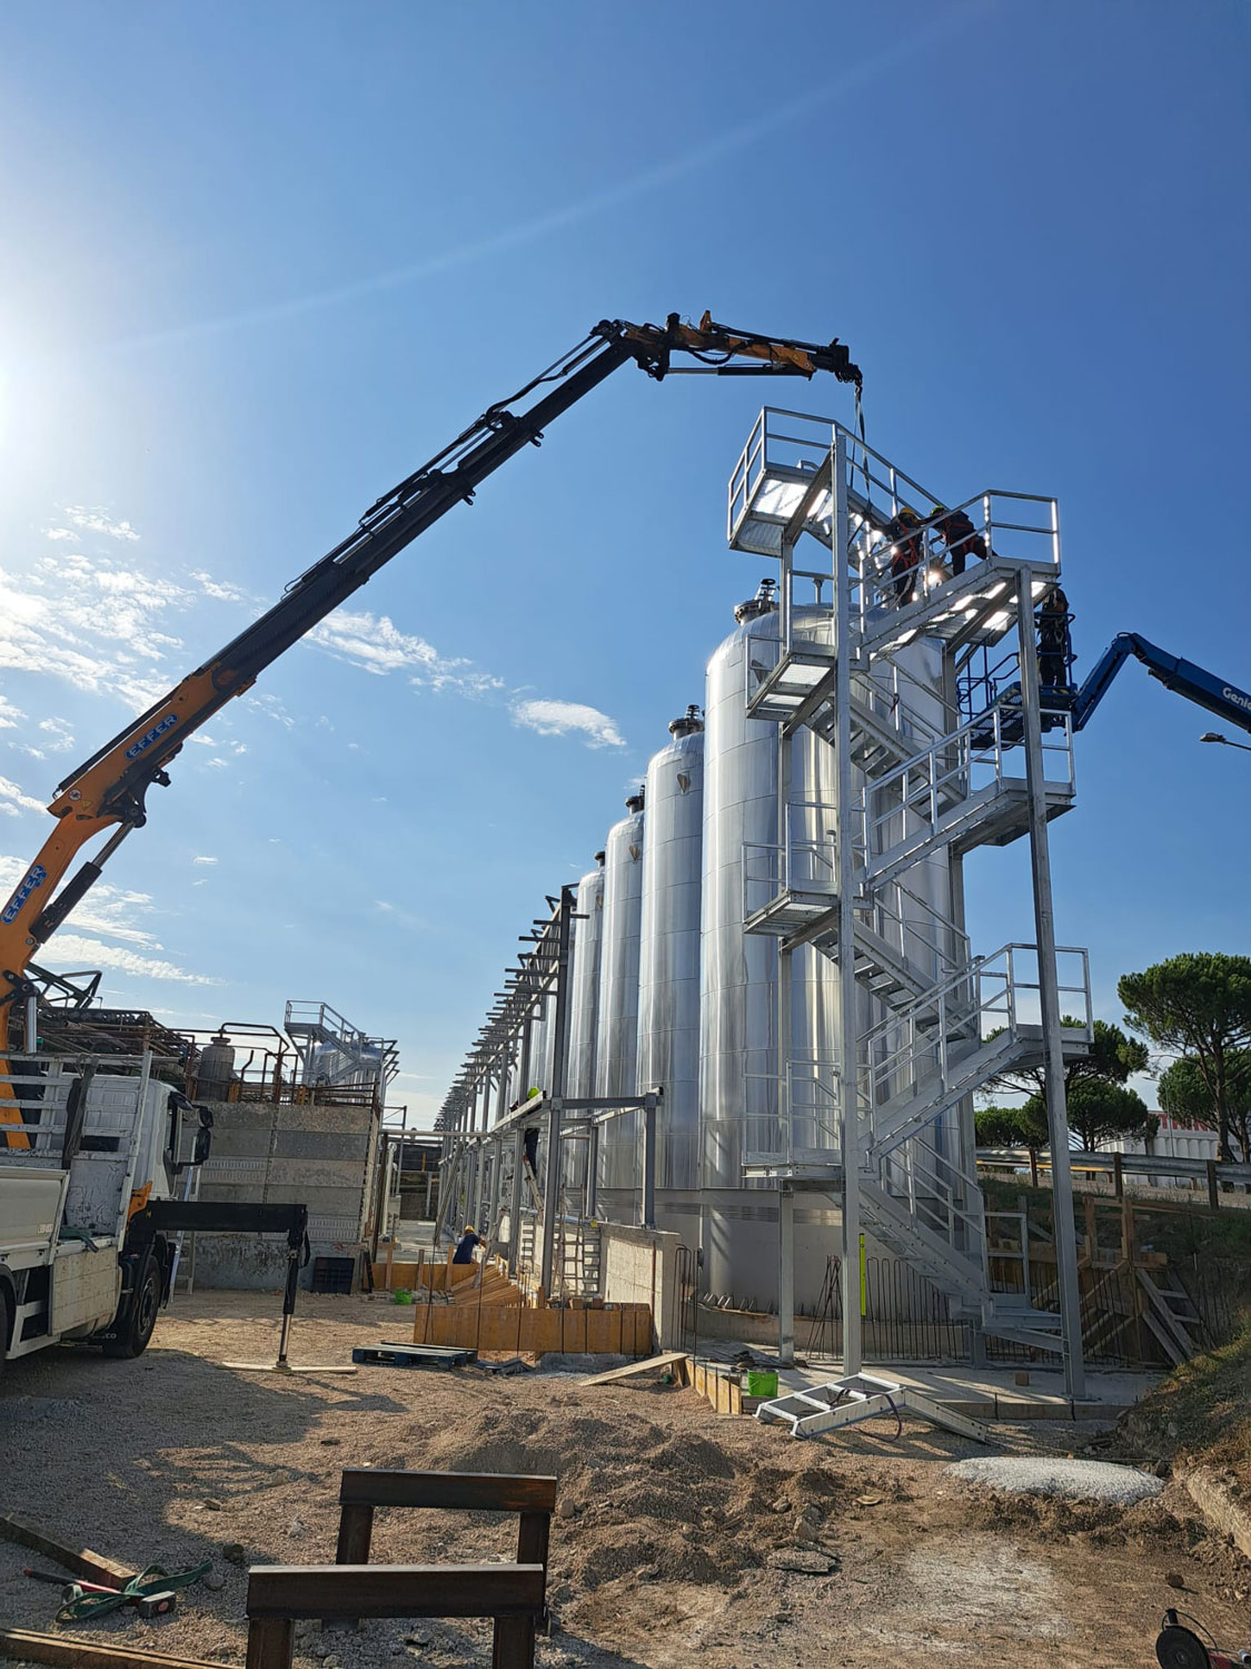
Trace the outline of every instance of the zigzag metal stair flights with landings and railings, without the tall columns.
<path fill-rule="evenodd" d="M 1021 618 L 1021 599 L 1037 601 L 1059 574 L 1056 506 L 1004 492 L 967 501 L 982 554 L 954 574 L 922 531 L 916 596 L 901 604 L 889 524 L 904 501 L 922 516 L 937 502 L 841 426 L 794 412 L 761 414 L 731 477 L 731 546 L 781 561 L 777 636 L 754 639 L 747 714 L 779 726 L 781 749 L 811 731 L 836 763 L 841 748 L 851 761 L 839 778 L 842 803 L 787 804 L 779 794 L 776 843 L 742 855 L 744 923 L 776 938 L 784 958 L 812 946 L 841 976 L 849 953 L 861 1016 L 839 1061 L 779 1061 L 776 1148 L 747 1155 L 744 1175 L 846 1195 L 846 1118 L 854 1118 L 866 1228 L 922 1270 L 954 1317 L 1059 1349 L 1058 1315 L 991 1290 L 972 1160 L 974 1092 L 1044 1060 L 1037 953 L 1014 943 L 972 956 L 961 923 L 909 886 L 926 860 L 949 875 L 977 848 L 1029 831 L 1019 688 L 971 711 L 966 668 L 974 653 L 986 659 L 1009 634 L 1032 633 L 1032 603 Z M 806 536 L 826 546 L 827 569 L 797 566 Z M 827 606 L 832 589 L 829 631 L 814 631 L 811 613 L 794 631 L 802 584 L 816 586 L 816 601 Z M 936 679 L 917 676 L 919 654 L 939 669 Z M 1051 819 L 1074 801 L 1069 716 L 1042 714 L 1041 731 L 1037 791 Z M 792 781 L 786 756 L 781 779 Z M 852 943 L 844 946 L 847 931 Z M 1064 1030 L 1063 1048 L 1084 1053 L 1086 955 L 1058 956 L 1064 1008 L 1081 1018 Z M 779 1010 L 782 1038 L 787 1025 Z"/>

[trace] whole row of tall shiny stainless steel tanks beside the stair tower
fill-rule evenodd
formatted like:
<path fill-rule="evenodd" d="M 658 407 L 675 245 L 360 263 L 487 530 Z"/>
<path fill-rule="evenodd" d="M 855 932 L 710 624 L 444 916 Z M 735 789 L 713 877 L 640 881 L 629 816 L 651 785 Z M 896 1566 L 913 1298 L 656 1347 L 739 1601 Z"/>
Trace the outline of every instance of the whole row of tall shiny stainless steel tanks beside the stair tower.
<path fill-rule="evenodd" d="M 834 963 L 812 948 L 792 958 L 791 1038 L 779 1061 L 777 940 L 744 930 L 747 878 L 776 873 L 779 728 L 747 718 L 747 691 L 779 654 L 779 616 L 766 598 L 739 604 L 736 628 L 709 664 L 704 718 L 691 708 L 669 726 L 671 743 L 647 766 L 627 814 L 577 888 L 569 1008 L 567 1097 L 631 1097 L 661 1085 L 657 1225 L 702 1250 L 701 1287 L 739 1305 L 777 1295 L 777 1207 L 771 1187 L 742 1178 L 746 1153 L 777 1152 L 779 1071 L 837 1060 Z M 796 609 L 796 638 L 827 639 L 827 609 Z M 924 683 L 941 683 L 917 644 Z M 937 663 L 937 658 L 934 658 Z M 862 693 L 874 703 L 874 691 Z M 794 851 L 829 851 L 837 823 L 834 749 L 811 729 L 791 748 L 789 831 Z M 772 855 L 772 856 L 771 856 Z M 931 866 L 932 868 L 932 866 Z M 917 878 L 912 878 L 914 881 Z M 946 873 L 922 876 L 944 911 Z M 552 1082 L 552 1020 L 535 1020 L 529 1080 Z M 872 1030 L 872 1000 L 859 1025 Z M 514 1073 L 514 1092 L 524 1088 Z M 811 1095 L 796 1088 L 796 1142 L 834 1145 L 827 1120 L 804 1118 Z M 821 1110 L 817 1108 L 817 1113 Z M 801 1128 L 802 1123 L 802 1128 Z M 585 1190 L 589 1143 L 569 1143 L 565 1178 Z M 641 1118 L 602 1127 L 595 1205 L 602 1217 L 637 1220 Z M 837 1208 L 809 1193 L 796 1210 L 796 1298 L 817 1300 L 826 1255 L 837 1250 Z"/>

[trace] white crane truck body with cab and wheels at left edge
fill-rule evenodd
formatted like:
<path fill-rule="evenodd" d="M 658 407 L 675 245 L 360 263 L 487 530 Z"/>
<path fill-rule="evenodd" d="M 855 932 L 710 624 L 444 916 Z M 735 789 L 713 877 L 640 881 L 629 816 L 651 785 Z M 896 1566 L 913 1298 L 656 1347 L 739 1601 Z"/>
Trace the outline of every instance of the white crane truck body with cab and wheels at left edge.
<path fill-rule="evenodd" d="M 168 1300 L 170 1237 L 132 1237 L 150 1200 L 185 1197 L 210 1115 L 152 1056 L 13 1055 L 20 1127 L 0 1127 L 0 1365 L 62 1340 L 138 1355 Z"/>

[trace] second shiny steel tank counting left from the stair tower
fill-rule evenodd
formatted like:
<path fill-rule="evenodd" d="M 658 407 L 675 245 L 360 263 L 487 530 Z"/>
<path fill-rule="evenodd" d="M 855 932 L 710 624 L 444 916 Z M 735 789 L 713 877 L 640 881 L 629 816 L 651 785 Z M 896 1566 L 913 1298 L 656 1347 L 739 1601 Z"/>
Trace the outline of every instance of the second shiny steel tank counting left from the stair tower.
<path fill-rule="evenodd" d="M 647 766 L 647 845 L 639 935 L 637 1083 L 664 1088 L 657 1113 L 656 1215 L 697 1232 L 699 948 L 704 846 L 704 721 L 699 708 L 669 726 Z"/>

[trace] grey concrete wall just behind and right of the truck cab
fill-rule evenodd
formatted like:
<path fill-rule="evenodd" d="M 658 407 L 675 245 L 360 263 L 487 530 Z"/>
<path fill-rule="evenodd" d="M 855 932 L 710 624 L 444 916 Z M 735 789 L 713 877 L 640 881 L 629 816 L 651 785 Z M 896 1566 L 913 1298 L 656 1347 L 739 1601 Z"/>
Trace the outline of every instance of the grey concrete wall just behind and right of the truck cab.
<path fill-rule="evenodd" d="M 365 1107 L 208 1102 L 212 1155 L 200 1198 L 307 1205 L 314 1257 L 354 1257 L 372 1205 L 379 1122 Z M 285 1242 L 267 1235 L 198 1235 L 195 1282 L 203 1287 L 280 1287 Z M 312 1265 L 304 1272 L 304 1285 Z"/>

